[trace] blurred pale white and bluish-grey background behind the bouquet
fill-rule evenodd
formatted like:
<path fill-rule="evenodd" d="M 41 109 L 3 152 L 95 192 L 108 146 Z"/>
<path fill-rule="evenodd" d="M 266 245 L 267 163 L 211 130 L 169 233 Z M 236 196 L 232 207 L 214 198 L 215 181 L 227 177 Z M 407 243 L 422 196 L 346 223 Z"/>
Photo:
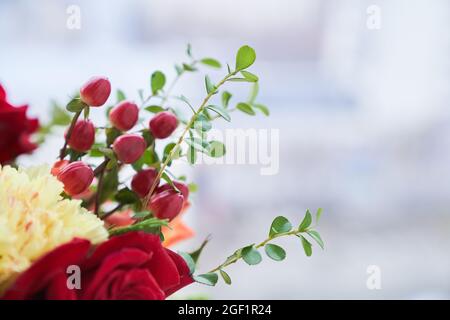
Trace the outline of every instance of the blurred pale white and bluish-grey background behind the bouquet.
<path fill-rule="evenodd" d="M 71 5 L 80 8 L 80 29 L 66 27 Z M 211 233 L 206 271 L 263 240 L 273 217 L 297 222 L 323 207 L 325 251 L 316 246 L 307 258 L 298 239 L 285 239 L 286 261 L 241 262 L 228 269 L 232 286 L 192 285 L 178 297 L 448 299 L 448 30 L 447 0 L 0 0 L 0 82 L 45 122 L 50 99 L 66 103 L 92 75 L 138 99 L 154 70 L 173 78 L 187 43 L 196 57 L 231 64 L 249 44 L 258 100 L 271 116 L 233 114 L 218 125 L 279 129 L 279 172 L 181 163 L 199 192 L 186 214 L 197 235 L 180 248 Z M 202 73 L 225 72 L 201 71 L 174 92 L 198 104 Z M 92 112 L 95 121 L 103 114 Z M 61 140 L 19 163 L 52 163 Z M 371 265 L 381 272 L 379 290 L 366 284 Z"/>

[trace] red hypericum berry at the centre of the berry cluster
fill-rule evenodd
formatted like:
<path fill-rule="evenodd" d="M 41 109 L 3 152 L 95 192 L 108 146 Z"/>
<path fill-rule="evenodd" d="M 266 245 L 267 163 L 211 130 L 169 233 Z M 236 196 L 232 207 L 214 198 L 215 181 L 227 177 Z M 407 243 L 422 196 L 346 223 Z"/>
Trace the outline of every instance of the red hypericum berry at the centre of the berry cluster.
<path fill-rule="evenodd" d="M 113 143 L 113 150 L 117 159 L 126 164 L 139 160 L 146 147 L 144 138 L 137 134 L 124 134 Z"/>

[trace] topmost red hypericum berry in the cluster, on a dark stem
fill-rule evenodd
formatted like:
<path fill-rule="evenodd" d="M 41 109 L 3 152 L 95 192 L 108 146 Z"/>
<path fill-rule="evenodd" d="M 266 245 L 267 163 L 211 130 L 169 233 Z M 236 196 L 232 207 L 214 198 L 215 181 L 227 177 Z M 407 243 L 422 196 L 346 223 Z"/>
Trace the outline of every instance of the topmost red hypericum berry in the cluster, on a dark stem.
<path fill-rule="evenodd" d="M 80 89 L 81 100 L 91 107 L 99 107 L 108 100 L 111 83 L 107 78 L 93 77 Z"/>

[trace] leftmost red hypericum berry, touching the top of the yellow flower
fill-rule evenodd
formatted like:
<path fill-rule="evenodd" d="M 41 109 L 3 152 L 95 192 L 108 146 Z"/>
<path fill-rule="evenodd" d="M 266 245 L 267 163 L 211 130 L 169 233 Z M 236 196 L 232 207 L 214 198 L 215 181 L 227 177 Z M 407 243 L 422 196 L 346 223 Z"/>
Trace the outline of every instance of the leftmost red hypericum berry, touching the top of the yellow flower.
<path fill-rule="evenodd" d="M 84 162 L 75 161 L 62 168 L 57 178 L 64 184 L 64 191 L 74 196 L 89 188 L 94 179 L 94 171 Z"/>

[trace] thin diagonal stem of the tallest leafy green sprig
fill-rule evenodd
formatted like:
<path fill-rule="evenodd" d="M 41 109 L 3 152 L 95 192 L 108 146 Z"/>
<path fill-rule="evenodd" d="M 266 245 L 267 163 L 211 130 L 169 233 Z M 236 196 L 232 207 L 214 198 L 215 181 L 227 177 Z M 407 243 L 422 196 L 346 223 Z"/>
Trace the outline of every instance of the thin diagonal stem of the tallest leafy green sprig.
<path fill-rule="evenodd" d="M 203 109 L 205 108 L 206 104 L 208 103 L 209 99 L 215 94 L 215 92 L 231 77 L 233 77 L 234 75 L 236 75 L 239 71 L 233 71 L 229 74 L 227 74 L 220 82 L 218 82 L 216 84 L 216 90 L 215 91 L 211 91 L 210 93 L 208 93 L 208 95 L 205 97 L 205 99 L 203 99 L 202 104 L 200 105 L 200 107 L 197 109 L 197 111 L 192 115 L 191 119 L 189 120 L 188 124 L 186 125 L 183 133 L 181 134 L 181 136 L 179 137 L 177 143 L 175 144 L 175 146 L 172 148 L 171 152 L 169 153 L 169 155 L 166 158 L 166 161 L 164 161 L 164 163 L 162 164 L 159 172 L 158 172 L 158 176 L 155 179 L 155 182 L 153 182 L 152 187 L 150 188 L 149 193 L 145 196 L 144 200 L 142 201 L 142 207 L 145 209 L 147 208 L 147 205 L 150 201 L 150 197 L 153 194 L 153 191 L 155 191 L 156 187 L 157 187 L 157 183 L 158 181 L 161 179 L 162 174 L 164 173 L 164 170 L 166 169 L 167 165 L 169 164 L 170 161 L 172 161 L 172 157 L 174 156 L 175 151 L 177 151 L 179 149 L 179 147 L 181 146 L 181 143 L 184 141 L 184 137 L 186 136 L 186 133 L 192 128 L 195 119 L 197 118 L 197 115 L 203 111 Z"/>

